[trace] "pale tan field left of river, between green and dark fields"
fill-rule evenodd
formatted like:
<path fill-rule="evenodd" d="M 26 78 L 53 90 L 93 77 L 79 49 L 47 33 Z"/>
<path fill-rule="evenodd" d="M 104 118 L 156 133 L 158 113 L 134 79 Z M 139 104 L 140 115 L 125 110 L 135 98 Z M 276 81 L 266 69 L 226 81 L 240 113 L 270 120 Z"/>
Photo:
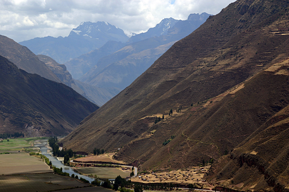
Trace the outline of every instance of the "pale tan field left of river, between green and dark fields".
<path fill-rule="evenodd" d="M 1 154 L 0 175 L 53 172 L 42 159 L 27 153 Z"/>

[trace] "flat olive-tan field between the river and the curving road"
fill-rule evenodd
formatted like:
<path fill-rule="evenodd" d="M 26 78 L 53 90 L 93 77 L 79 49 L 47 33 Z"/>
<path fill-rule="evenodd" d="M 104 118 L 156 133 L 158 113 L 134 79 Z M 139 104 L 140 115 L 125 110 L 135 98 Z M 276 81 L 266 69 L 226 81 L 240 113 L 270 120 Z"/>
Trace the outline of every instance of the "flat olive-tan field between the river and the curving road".
<path fill-rule="evenodd" d="M 126 178 L 130 176 L 131 172 L 123 172 L 119 170 L 118 168 L 113 167 L 82 167 L 76 169 L 78 172 L 81 172 L 83 174 L 90 175 L 92 174 L 97 175 L 99 178 L 102 179 L 115 179 L 118 175 L 120 175 L 122 178 Z"/>

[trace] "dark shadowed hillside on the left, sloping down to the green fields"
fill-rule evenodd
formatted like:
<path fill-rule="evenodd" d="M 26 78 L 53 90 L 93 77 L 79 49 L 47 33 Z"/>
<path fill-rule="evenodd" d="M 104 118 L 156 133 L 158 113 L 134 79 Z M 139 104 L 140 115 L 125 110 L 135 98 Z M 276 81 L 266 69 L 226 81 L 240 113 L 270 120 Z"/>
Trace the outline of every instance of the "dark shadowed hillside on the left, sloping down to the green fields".
<path fill-rule="evenodd" d="M 18 69 L 0 56 L 0 133 L 63 135 L 97 110 L 73 89 Z"/>

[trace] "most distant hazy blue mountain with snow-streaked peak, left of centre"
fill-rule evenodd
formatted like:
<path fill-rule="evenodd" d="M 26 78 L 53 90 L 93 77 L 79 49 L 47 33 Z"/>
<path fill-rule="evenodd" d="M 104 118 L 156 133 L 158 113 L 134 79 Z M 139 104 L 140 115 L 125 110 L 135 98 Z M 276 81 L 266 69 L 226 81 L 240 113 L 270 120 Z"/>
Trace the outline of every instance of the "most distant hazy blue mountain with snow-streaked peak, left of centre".
<path fill-rule="evenodd" d="M 122 29 L 107 22 L 82 22 L 72 29 L 67 37 L 34 38 L 19 44 L 28 47 L 36 55 L 47 55 L 63 64 L 82 54 L 86 54 L 104 45 L 107 41 L 129 39 Z"/>

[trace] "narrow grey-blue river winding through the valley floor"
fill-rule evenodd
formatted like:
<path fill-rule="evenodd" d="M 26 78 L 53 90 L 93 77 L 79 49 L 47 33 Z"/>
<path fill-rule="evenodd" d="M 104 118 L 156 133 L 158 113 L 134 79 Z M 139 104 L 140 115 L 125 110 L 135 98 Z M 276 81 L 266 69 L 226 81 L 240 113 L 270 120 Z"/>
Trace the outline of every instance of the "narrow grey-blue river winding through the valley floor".
<path fill-rule="evenodd" d="M 88 180 L 90 183 L 91 181 L 94 181 L 94 178 L 88 177 L 88 176 L 84 176 L 84 175 L 80 175 L 76 172 L 73 171 L 73 168 L 69 167 L 69 166 L 65 166 L 63 165 L 62 161 L 59 161 L 56 157 L 51 156 L 50 154 L 47 153 L 47 147 L 45 147 L 45 145 L 47 144 L 47 139 L 44 140 L 39 140 L 40 144 L 35 144 L 35 147 L 39 147 L 40 151 L 42 153 L 42 155 L 45 155 L 51 162 L 52 165 L 55 166 L 56 168 L 61 168 L 62 167 L 62 172 L 66 172 L 69 173 L 69 175 L 71 176 L 72 174 L 77 175 L 78 178 L 82 177 L 86 180 Z"/>

